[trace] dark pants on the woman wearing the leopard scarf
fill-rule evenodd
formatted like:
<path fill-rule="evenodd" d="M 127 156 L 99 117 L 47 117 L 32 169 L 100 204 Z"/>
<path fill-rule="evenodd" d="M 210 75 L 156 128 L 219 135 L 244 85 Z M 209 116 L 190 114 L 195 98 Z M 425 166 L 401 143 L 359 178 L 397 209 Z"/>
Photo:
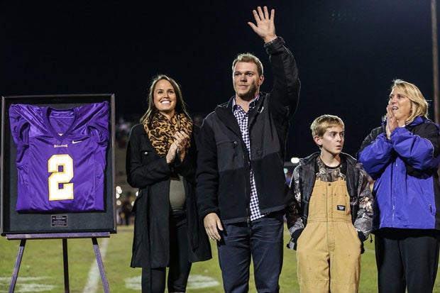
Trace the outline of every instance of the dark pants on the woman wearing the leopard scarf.
<path fill-rule="evenodd" d="M 191 262 L 188 261 L 187 218 L 185 212 L 170 217 L 170 263 L 168 264 L 168 292 L 185 292 Z M 142 269 L 142 292 L 165 292 L 166 267 Z"/>

